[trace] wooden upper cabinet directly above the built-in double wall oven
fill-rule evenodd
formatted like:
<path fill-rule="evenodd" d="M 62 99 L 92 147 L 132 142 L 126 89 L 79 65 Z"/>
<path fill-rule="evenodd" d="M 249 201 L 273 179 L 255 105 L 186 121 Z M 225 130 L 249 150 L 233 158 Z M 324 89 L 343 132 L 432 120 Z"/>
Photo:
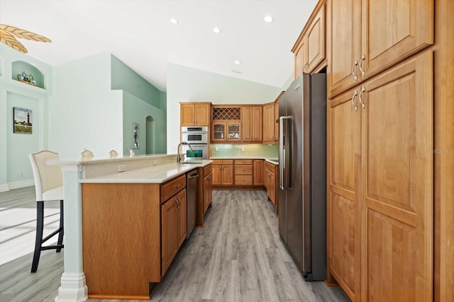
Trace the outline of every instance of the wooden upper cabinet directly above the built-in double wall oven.
<path fill-rule="evenodd" d="M 211 103 L 180 103 L 181 126 L 209 126 Z"/>

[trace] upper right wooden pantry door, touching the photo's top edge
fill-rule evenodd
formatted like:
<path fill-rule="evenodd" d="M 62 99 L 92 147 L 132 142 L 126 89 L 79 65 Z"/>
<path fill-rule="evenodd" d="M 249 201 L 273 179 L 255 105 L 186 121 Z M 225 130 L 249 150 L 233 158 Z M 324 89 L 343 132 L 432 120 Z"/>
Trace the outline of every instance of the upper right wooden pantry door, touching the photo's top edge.
<path fill-rule="evenodd" d="M 433 0 L 362 0 L 361 9 L 363 79 L 433 44 Z"/>

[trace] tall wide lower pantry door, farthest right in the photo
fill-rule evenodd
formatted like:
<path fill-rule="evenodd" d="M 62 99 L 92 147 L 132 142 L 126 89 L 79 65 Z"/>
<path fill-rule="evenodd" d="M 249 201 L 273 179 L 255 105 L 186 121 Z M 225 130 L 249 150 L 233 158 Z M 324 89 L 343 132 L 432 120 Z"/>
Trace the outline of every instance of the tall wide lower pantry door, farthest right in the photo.
<path fill-rule="evenodd" d="M 423 52 L 362 86 L 363 301 L 432 300 L 432 62 Z"/>

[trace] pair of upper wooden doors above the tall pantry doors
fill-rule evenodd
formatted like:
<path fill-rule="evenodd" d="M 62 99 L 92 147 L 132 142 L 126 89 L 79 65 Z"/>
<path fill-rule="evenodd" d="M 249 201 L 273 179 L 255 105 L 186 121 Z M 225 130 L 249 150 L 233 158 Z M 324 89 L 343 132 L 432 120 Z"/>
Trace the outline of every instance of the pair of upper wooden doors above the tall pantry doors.
<path fill-rule="evenodd" d="M 433 44 L 433 1 L 329 1 L 327 26 L 333 97 Z"/>

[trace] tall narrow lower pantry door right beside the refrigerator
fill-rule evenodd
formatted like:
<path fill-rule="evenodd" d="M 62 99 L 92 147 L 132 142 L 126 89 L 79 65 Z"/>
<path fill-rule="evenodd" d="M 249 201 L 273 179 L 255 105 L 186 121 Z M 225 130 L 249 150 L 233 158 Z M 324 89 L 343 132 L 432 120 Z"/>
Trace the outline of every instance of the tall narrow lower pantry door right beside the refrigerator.
<path fill-rule="evenodd" d="M 331 100 L 327 116 L 328 272 L 336 278 L 345 294 L 356 301 L 360 294 L 361 112 L 358 88 Z M 329 274 L 327 279 L 331 282 Z"/>

